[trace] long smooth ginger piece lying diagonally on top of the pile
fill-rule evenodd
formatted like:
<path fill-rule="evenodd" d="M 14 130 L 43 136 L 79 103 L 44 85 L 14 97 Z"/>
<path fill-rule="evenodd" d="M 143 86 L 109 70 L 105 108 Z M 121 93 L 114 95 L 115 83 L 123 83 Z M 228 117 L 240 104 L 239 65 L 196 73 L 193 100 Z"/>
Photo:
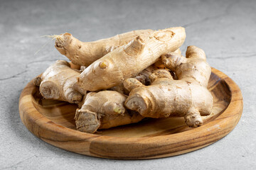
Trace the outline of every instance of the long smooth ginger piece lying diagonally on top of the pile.
<path fill-rule="evenodd" d="M 161 55 L 177 50 L 185 38 L 182 27 L 157 30 L 145 40 L 137 37 L 90 64 L 80 74 L 78 84 L 85 91 L 117 86 L 154 64 Z"/>

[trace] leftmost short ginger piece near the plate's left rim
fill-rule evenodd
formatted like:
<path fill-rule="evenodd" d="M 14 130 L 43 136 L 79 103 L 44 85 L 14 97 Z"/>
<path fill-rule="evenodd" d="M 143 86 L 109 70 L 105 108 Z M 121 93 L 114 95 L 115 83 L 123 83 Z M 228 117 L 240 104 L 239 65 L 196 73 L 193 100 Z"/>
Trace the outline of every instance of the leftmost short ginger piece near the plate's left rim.
<path fill-rule="evenodd" d="M 34 79 L 44 98 L 69 103 L 79 103 L 86 91 L 82 91 L 77 84 L 80 73 L 71 69 L 70 64 L 64 60 L 57 60 L 48 69 Z"/>

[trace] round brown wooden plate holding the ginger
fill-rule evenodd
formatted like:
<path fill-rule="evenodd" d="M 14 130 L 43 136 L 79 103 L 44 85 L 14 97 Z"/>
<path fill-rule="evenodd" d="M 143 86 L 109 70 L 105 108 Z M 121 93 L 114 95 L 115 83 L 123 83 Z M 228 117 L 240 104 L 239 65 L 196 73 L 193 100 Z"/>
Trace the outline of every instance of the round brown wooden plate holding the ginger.
<path fill-rule="evenodd" d="M 19 99 L 21 120 L 41 140 L 62 149 L 110 159 L 152 159 L 191 152 L 220 140 L 242 115 L 242 94 L 228 76 L 212 69 L 208 89 L 213 113 L 199 128 L 183 118 L 146 119 L 131 125 L 87 134 L 75 130 L 76 105 L 43 99 L 33 81 Z"/>

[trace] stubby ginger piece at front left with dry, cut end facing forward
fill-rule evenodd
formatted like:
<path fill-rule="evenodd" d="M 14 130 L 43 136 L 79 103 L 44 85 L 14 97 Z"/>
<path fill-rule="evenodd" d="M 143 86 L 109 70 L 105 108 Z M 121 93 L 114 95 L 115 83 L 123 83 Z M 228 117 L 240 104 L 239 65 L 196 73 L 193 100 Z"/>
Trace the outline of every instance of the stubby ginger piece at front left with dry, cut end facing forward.
<path fill-rule="evenodd" d="M 90 92 L 75 113 L 75 125 L 82 132 L 93 133 L 119 125 L 137 123 L 144 117 L 124 108 L 126 96 L 117 91 Z"/>

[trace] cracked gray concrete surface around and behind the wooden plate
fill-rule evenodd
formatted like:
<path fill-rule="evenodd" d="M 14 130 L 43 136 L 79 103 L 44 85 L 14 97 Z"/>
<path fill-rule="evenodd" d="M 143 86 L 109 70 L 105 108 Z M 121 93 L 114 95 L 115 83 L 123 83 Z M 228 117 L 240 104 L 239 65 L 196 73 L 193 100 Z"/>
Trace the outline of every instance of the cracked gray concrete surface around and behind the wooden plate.
<path fill-rule="evenodd" d="M 53 61 L 65 60 L 48 38 L 80 40 L 136 29 L 186 28 L 187 45 L 206 51 L 212 67 L 242 90 L 237 127 L 213 145 L 164 159 L 119 161 L 86 157 L 48 145 L 18 115 L 24 86 Z M 0 169 L 256 169 L 256 1 L 0 1 Z"/>

